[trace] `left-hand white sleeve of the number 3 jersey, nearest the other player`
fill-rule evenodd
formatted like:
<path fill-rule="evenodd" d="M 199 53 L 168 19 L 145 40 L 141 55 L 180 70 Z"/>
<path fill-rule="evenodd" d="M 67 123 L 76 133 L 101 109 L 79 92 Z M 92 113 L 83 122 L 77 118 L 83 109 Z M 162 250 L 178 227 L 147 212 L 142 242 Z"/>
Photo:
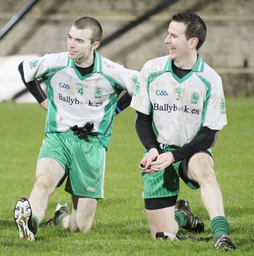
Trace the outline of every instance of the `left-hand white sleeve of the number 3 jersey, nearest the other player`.
<path fill-rule="evenodd" d="M 151 103 L 148 94 L 149 69 L 147 63 L 143 66 L 137 84 L 134 89 L 132 102 L 130 106 L 143 114 L 151 113 Z"/>

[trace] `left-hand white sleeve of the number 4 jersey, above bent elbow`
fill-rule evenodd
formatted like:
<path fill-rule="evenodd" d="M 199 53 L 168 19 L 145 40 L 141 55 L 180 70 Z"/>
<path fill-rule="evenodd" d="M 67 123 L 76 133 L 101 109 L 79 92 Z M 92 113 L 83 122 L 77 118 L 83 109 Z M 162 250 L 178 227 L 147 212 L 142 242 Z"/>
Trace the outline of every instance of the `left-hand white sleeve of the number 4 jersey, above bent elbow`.
<path fill-rule="evenodd" d="M 31 82 L 36 78 L 41 78 L 49 70 L 45 56 L 26 59 L 23 62 L 25 82 Z"/>

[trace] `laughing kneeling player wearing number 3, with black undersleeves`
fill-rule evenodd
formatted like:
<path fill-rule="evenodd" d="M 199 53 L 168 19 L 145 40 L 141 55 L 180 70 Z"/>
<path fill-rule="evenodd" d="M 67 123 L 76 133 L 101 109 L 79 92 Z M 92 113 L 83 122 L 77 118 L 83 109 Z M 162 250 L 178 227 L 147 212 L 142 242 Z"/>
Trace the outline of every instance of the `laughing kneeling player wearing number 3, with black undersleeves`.
<path fill-rule="evenodd" d="M 174 15 L 164 41 L 169 56 L 144 65 L 130 106 L 146 148 L 140 168 L 152 237 L 174 237 L 190 222 L 188 203 L 176 202 L 181 177 L 191 189 L 200 187 L 214 245 L 228 250 L 234 245 L 210 150 L 227 123 L 225 99 L 220 76 L 198 54 L 206 33 L 198 15 Z"/>

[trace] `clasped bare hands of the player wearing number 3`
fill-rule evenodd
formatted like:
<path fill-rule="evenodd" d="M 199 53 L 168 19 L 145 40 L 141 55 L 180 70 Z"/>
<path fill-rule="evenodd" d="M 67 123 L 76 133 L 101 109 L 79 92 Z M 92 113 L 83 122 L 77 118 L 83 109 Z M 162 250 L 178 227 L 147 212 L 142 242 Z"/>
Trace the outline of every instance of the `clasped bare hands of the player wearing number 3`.
<path fill-rule="evenodd" d="M 171 152 L 159 154 L 156 148 L 151 148 L 143 157 L 139 168 L 145 173 L 155 173 L 167 168 L 174 162 L 174 156 Z"/>

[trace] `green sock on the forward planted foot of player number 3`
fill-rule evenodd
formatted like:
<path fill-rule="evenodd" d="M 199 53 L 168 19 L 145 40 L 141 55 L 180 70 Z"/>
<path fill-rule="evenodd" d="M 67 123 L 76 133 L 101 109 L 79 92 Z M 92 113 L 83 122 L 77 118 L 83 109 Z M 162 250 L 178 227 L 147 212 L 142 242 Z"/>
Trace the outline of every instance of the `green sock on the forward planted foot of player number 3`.
<path fill-rule="evenodd" d="M 217 238 L 222 234 L 229 235 L 229 223 L 227 223 L 227 218 L 224 216 L 216 216 L 211 220 L 211 231 L 213 233 L 213 238 Z"/>

